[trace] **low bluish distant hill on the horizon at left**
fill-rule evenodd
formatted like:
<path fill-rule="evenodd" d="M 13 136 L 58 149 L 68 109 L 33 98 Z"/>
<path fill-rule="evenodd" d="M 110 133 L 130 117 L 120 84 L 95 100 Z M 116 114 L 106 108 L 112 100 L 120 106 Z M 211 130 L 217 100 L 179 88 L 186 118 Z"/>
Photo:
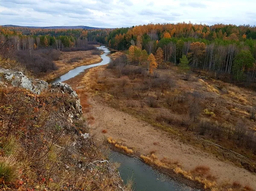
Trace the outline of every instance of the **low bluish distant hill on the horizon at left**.
<path fill-rule="evenodd" d="M 2 25 L 3 27 L 24 27 L 24 28 L 33 28 L 33 29 L 106 29 L 106 28 L 97 28 L 90 26 L 18 26 L 18 25 Z"/>

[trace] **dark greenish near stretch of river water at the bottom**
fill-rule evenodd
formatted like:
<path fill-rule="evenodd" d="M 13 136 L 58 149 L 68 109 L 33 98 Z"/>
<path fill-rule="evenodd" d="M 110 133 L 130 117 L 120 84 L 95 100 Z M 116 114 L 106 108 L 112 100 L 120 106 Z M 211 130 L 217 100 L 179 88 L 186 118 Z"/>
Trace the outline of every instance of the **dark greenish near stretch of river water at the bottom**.
<path fill-rule="evenodd" d="M 137 158 L 111 151 L 109 160 L 120 163 L 120 176 L 125 183 L 133 180 L 134 191 L 195 191 L 159 173 Z"/>

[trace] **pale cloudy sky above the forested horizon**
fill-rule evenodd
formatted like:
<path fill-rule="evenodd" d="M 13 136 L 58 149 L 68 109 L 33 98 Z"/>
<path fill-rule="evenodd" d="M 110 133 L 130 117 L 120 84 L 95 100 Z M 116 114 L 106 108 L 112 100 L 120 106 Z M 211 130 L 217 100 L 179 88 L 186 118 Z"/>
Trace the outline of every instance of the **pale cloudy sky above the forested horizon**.
<path fill-rule="evenodd" d="M 256 0 L 0 0 L 0 25 L 120 28 L 191 22 L 256 25 Z"/>

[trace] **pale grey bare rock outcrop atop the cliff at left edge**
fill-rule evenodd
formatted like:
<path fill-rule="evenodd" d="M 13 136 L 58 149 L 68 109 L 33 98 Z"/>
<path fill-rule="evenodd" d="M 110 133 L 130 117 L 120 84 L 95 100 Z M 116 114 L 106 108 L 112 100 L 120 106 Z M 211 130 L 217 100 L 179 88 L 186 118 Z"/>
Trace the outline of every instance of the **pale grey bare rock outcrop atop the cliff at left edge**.
<path fill-rule="evenodd" d="M 40 94 L 43 89 L 48 87 L 48 83 L 38 79 L 29 79 L 20 71 L 12 71 L 0 68 L 0 81 L 7 80 L 12 86 L 25 88 L 34 94 Z M 3 79 L 2 79 L 3 78 Z"/>

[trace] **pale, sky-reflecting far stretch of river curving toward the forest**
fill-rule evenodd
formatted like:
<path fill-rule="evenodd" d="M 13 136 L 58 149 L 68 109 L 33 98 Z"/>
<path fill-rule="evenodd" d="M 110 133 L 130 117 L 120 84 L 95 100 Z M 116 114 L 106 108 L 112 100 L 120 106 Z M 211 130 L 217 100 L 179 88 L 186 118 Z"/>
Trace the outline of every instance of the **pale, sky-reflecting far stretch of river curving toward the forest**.
<path fill-rule="evenodd" d="M 102 58 L 102 61 L 100 63 L 92 64 L 92 65 L 88 65 L 88 66 L 79 66 L 73 70 L 68 71 L 64 75 L 49 81 L 49 83 L 64 82 L 66 80 L 69 80 L 70 78 L 77 76 L 79 73 L 83 72 L 84 70 L 86 70 L 88 68 L 93 68 L 95 66 L 101 66 L 101 65 L 108 64 L 110 62 L 110 57 L 107 56 L 107 54 L 110 53 L 109 49 L 105 46 L 99 46 L 97 48 L 104 51 L 104 54 L 102 54 L 100 56 Z"/>

